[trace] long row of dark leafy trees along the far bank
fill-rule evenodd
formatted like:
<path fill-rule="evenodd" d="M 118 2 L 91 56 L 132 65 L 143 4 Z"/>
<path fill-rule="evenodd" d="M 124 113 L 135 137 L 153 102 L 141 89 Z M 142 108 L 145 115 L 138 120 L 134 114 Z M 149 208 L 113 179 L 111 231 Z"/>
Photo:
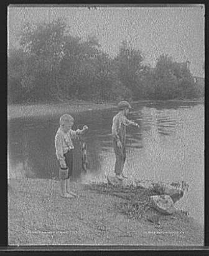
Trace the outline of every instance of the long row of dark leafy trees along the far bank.
<path fill-rule="evenodd" d="M 121 42 L 114 58 L 95 36 L 85 41 L 68 31 L 64 19 L 25 24 L 19 47 L 8 54 L 8 102 L 114 101 L 201 97 L 192 74 L 168 55 L 156 67 L 141 51 Z"/>

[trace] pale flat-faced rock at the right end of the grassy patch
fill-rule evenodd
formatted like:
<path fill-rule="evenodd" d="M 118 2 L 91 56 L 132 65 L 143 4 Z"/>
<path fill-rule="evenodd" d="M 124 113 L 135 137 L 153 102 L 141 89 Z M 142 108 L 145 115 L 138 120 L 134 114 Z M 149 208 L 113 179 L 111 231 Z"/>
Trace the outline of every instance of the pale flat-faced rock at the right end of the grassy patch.
<path fill-rule="evenodd" d="M 150 200 L 153 207 L 162 214 L 174 213 L 174 201 L 170 195 L 152 195 Z"/>

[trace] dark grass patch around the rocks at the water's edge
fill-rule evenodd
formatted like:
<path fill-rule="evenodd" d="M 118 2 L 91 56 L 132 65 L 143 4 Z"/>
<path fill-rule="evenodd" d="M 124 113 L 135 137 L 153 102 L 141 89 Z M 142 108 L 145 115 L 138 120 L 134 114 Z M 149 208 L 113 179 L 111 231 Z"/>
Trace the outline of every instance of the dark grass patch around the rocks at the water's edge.
<path fill-rule="evenodd" d="M 99 194 L 112 195 L 124 199 L 123 202 L 116 200 L 114 207 L 119 213 L 126 215 L 130 219 L 151 221 L 154 219 L 152 222 L 158 222 L 160 216 L 163 215 L 154 209 L 149 197 L 164 194 L 164 185 L 156 183 L 151 189 L 145 189 L 139 185 L 123 187 L 119 185 L 108 185 L 106 183 L 91 183 L 86 184 L 85 188 Z M 179 212 L 175 212 L 174 215 L 184 218 L 188 215 L 188 212 L 180 210 Z"/>

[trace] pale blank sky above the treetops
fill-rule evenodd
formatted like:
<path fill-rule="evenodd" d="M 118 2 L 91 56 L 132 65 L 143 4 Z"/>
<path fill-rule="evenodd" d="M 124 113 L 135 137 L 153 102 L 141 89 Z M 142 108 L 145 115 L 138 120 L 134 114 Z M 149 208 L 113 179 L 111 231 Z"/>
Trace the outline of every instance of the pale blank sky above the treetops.
<path fill-rule="evenodd" d="M 86 39 L 95 35 L 103 51 L 111 57 L 119 52 L 121 41 L 127 40 L 142 51 L 144 63 L 155 66 L 160 54 L 174 61 L 190 61 L 193 76 L 205 76 L 205 7 L 136 6 L 9 6 L 7 16 L 8 47 L 17 46 L 17 34 L 25 22 L 35 24 L 65 17 L 73 36 Z"/>

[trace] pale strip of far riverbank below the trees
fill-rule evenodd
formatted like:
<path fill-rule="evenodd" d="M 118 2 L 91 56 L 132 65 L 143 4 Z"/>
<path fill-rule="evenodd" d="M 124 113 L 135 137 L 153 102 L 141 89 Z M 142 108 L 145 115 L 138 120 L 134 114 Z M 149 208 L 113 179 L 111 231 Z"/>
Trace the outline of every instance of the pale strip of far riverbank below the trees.
<path fill-rule="evenodd" d="M 204 99 L 175 99 L 168 100 L 167 102 L 200 102 L 203 103 Z M 136 101 L 132 102 L 162 102 L 162 101 Z M 66 111 L 70 113 L 77 113 L 83 111 L 92 111 L 92 110 L 103 110 L 103 109 L 113 109 L 117 107 L 118 102 L 103 102 L 103 103 L 95 103 L 90 101 L 68 101 L 62 103 L 54 103 L 54 104 L 34 104 L 34 105 L 9 105 L 7 107 L 7 119 L 14 119 L 20 117 L 43 117 L 43 116 L 55 116 L 62 115 Z"/>

